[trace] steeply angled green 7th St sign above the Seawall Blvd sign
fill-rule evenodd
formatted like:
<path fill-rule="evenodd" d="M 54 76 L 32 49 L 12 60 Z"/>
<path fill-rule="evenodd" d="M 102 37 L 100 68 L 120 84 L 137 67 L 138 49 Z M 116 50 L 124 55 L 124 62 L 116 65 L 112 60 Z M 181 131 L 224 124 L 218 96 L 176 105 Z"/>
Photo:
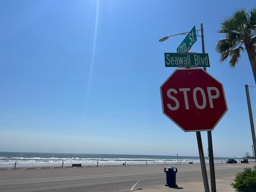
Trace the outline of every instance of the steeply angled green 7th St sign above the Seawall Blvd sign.
<path fill-rule="evenodd" d="M 196 42 L 196 26 L 192 28 L 192 30 L 188 33 L 188 35 L 184 38 L 181 44 L 177 48 L 177 52 L 186 52 L 192 47 L 192 45 Z"/>

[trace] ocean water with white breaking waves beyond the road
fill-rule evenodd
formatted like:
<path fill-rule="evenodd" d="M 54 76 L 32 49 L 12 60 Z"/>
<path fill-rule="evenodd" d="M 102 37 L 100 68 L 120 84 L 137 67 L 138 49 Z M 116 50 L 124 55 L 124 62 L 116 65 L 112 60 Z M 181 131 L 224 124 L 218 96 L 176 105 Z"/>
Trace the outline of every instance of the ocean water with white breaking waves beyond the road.
<path fill-rule="evenodd" d="M 234 157 L 233 157 L 234 158 Z M 228 158 L 214 157 L 214 163 L 226 163 Z M 236 158 L 240 160 L 241 158 Z M 125 155 L 125 154 L 72 154 L 72 153 L 33 153 L 33 152 L 0 152 L 0 168 L 48 167 L 48 166 L 102 166 L 133 164 L 189 164 L 200 163 L 199 157 L 191 156 L 158 156 L 158 155 Z M 208 158 L 205 162 L 209 163 Z"/>

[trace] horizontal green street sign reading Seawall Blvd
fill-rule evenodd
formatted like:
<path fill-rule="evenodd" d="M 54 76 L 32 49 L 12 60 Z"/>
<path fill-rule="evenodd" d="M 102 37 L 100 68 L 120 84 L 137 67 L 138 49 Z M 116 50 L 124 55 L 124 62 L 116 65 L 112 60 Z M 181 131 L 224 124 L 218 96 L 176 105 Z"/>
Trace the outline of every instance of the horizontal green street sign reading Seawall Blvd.
<path fill-rule="evenodd" d="M 166 67 L 210 67 L 208 53 L 164 53 Z"/>

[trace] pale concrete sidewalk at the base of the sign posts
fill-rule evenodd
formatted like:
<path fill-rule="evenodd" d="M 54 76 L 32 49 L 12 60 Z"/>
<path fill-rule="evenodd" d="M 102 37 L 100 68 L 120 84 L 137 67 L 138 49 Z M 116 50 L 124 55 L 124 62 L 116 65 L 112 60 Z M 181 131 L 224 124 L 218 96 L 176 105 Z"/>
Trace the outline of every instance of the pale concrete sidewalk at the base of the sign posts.
<path fill-rule="evenodd" d="M 230 185 L 234 182 L 233 177 L 225 177 L 216 179 L 216 192 L 235 192 L 235 189 Z M 168 187 L 165 185 L 144 188 L 140 190 L 141 192 L 205 192 L 204 190 L 204 182 L 196 181 L 196 182 L 187 182 L 187 183 L 176 183 L 178 187 Z M 210 180 L 209 180 L 209 189 L 211 191 Z"/>

